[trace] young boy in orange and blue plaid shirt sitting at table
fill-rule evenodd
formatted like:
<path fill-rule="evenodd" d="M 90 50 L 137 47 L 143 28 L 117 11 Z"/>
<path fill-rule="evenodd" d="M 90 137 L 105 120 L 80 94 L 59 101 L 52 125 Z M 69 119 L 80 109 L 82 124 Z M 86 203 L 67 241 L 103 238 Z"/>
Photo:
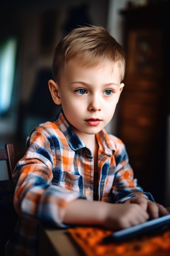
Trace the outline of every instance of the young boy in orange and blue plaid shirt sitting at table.
<path fill-rule="evenodd" d="M 38 223 L 117 230 L 168 214 L 138 186 L 122 141 L 104 130 L 124 72 L 124 51 L 102 27 L 79 27 L 57 45 L 49 90 L 62 111 L 32 131 L 13 173 L 20 218 L 6 255 L 37 255 Z"/>

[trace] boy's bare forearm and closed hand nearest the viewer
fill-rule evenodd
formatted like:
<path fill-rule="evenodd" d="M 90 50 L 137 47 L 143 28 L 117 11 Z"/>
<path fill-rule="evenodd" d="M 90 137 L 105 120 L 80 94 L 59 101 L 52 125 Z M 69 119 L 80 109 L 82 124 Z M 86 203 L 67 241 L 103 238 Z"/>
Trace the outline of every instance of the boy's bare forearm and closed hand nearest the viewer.
<path fill-rule="evenodd" d="M 76 199 L 66 206 L 63 222 L 73 225 L 102 226 L 119 230 L 149 219 L 140 204 L 111 204 L 107 202 Z"/>

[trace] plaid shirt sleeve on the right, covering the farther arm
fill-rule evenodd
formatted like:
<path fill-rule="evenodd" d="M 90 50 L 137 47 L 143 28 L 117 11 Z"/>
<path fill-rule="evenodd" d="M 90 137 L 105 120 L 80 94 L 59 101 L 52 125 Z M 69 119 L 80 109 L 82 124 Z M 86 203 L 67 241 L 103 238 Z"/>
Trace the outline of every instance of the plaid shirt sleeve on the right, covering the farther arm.
<path fill-rule="evenodd" d="M 113 202 L 122 203 L 137 195 L 143 195 L 145 198 L 155 202 L 152 194 L 144 192 L 141 186 L 138 185 L 137 179 L 134 178 L 126 147 L 123 143 L 119 144 L 119 148 L 115 152 L 115 160 L 116 170 L 113 182 Z"/>

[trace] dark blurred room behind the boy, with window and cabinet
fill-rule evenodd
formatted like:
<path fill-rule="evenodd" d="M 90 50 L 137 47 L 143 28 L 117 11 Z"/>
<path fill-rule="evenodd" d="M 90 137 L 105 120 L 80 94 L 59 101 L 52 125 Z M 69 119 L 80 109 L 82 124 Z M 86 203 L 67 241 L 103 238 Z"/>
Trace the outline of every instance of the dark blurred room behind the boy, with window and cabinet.
<path fill-rule="evenodd" d="M 126 144 L 139 184 L 170 206 L 168 0 L 1 1 L 0 148 L 12 142 L 24 152 L 31 130 L 55 118 L 60 107 L 48 89 L 55 46 L 88 24 L 109 29 L 127 56 L 125 88 L 106 129 Z"/>

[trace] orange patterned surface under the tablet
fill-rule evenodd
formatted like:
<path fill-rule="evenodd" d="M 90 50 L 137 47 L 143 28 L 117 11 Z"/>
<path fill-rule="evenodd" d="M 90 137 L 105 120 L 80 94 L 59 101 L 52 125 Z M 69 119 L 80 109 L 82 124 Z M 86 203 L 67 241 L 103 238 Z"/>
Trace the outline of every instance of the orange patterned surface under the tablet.
<path fill-rule="evenodd" d="M 170 229 L 124 243 L 102 243 L 111 231 L 93 227 L 68 229 L 86 256 L 170 256 Z"/>

